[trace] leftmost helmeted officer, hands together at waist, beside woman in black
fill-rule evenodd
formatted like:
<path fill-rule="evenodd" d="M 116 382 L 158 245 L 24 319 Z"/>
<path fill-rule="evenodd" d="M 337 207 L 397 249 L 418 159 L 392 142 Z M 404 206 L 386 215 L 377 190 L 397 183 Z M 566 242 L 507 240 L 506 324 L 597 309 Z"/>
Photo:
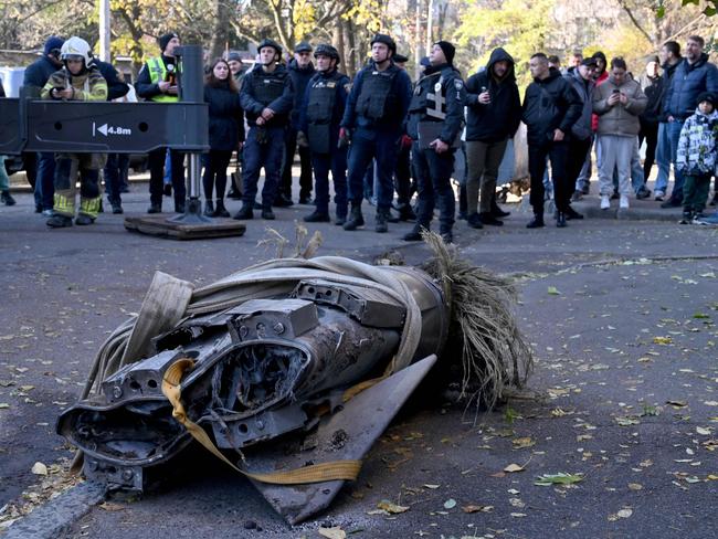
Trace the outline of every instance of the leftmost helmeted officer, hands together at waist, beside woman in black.
<path fill-rule="evenodd" d="M 284 136 L 294 101 L 292 78 L 286 67 L 277 62 L 282 47 L 273 40 L 262 41 L 257 50 L 260 61 L 242 82 L 240 102 L 246 114 L 250 133 L 244 142 L 242 170 L 242 209 L 234 219 L 254 216 L 254 197 L 264 167 L 262 219 L 274 219 L 272 203 L 282 172 Z"/>

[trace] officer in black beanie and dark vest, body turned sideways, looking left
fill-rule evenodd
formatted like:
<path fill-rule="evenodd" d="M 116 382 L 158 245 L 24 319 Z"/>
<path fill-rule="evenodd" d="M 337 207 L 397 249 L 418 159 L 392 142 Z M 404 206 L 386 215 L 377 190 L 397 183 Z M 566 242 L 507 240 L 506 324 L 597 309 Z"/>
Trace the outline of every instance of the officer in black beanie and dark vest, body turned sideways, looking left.
<path fill-rule="evenodd" d="M 451 187 L 455 142 L 464 121 L 466 89 L 454 68 L 455 49 L 447 41 L 434 43 L 431 65 L 416 83 L 409 107 L 409 136 L 414 140 L 412 162 L 419 188 L 419 209 L 414 229 L 406 241 L 421 240 L 429 230 L 434 205 L 439 207 L 440 234 L 452 243 L 455 201 Z"/>

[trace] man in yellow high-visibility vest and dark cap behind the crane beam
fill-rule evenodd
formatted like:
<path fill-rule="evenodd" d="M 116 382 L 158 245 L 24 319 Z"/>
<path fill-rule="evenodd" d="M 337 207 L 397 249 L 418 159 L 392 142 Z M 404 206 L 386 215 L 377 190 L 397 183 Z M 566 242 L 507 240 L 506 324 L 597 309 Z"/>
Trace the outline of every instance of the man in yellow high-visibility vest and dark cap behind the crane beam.
<path fill-rule="evenodd" d="M 135 83 L 137 96 L 155 103 L 177 103 L 177 60 L 175 50 L 180 46 L 179 35 L 166 33 L 157 40 L 161 54 L 150 57 L 142 66 Z M 149 209 L 147 213 L 162 211 L 162 189 L 165 177 L 166 148 L 149 152 Z M 172 189 L 175 191 L 175 211 L 184 213 L 184 155 L 170 148 Z"/>

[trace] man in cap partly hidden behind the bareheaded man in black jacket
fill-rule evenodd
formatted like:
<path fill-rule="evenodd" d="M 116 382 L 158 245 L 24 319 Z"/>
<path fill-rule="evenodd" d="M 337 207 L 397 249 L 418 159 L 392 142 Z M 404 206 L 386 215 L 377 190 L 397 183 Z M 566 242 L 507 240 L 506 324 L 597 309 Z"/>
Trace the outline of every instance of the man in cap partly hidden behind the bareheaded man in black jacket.
<path fill-rule="evenodd" d="M 571 83 L 573 89 L 581 98 L 583 108 L 581 117 L 571 127 L 571 138 L 569 139 L 569 156 L 566 167 L 569 188 L 574 188 L 574 194 L 583 193 L 583 184 L 579 181 L 581 170 L 585 165 L 587 158 L 590 159 L 591 145 L 593 144 L 592 114 L 593 114 L 593 71 L 598 67 L 596 60 L 591 56 L 581 60 L 581 63 L 572 72 L 566 75 L 566 80 Z M 589 178 L 585 179 L 588 183 Z M 578 197 L 577 197 L 578 198 Z M 574 200 L 571 198 L 571 200 Z M 569 204 L 566 209 L 566 219 L 583 219 Z"/>

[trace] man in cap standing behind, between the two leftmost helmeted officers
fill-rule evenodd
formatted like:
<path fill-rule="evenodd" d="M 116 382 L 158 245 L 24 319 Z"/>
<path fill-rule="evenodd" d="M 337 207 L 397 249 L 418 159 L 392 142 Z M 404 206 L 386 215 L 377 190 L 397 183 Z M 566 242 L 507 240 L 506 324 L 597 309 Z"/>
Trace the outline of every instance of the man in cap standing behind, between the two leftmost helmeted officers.
<path fill-rule="evenodd" d="M 292 85 L 294 86 L 294 106 L 289 127 L 287 129 L 284 149 L 284 163 L 282 166 L 282 181 L 277 190 L 274 205 L 292 205 L 292 165 L 294 154 L 297 149 L 297 131 L 299 130 L 299 105 L 304 99 L 309 80 L 314 76 L 315 70 L 312 64 L 312 45 L 303 41 L 294 49 L 294 59 L 288 66 Z M 299 175 L 299 203 L 312 202 L 312 156 L 308 148 L 299 147 L 299 162 L 302 172 Z"/>

